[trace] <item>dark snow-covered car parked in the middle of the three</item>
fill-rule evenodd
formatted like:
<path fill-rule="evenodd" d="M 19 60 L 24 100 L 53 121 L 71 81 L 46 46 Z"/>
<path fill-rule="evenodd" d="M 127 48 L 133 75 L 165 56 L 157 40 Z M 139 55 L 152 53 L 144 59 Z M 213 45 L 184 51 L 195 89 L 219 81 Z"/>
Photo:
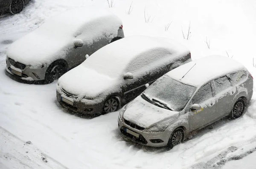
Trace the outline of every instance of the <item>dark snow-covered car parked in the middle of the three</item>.
<path fill-rule="evenodd" d="M 57 100 L 83 114 L 114 112 L 140 95 L 145 86 L 190 60 L 189 49 L 173 40 L 125 37 L 61 76 Z"/>

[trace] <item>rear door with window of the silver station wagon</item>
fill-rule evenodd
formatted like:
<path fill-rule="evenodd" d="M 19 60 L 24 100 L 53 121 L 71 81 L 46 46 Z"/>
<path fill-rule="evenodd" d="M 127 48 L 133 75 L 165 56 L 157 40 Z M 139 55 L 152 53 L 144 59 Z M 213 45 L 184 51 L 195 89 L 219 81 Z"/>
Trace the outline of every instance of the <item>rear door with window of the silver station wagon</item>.
<path fill-rule="evenodd" d="M 227 76 L 219 77 L 214 81 L 214 97 L 216 98 L 216 116 L 223 117 L 231 112 L 236 87 L 232 86 Z"/>

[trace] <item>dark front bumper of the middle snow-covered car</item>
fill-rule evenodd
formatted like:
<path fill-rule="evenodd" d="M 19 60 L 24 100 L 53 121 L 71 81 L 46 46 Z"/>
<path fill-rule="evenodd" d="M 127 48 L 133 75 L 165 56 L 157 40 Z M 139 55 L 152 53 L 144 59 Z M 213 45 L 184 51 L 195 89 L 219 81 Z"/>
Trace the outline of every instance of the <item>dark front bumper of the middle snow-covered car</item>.
<path fill-rule="evenodd" d="M 102 113 L 103 109 L 103 102 L 102 103 L 83 103 L 76 98 L 70 98 L 65 94 L 63 91 L 61 91 L 60 88 L 56 89 L 56 97 L 58 100 L 58 103 L 61 104 L 61 106 L 72 110 L 73 112 L 78 112 L 81 114 L 99 114 Z M 67 99 L 67 100 L 66 100 Z M 70 100 L 70 101 L 69 101 Z"/>

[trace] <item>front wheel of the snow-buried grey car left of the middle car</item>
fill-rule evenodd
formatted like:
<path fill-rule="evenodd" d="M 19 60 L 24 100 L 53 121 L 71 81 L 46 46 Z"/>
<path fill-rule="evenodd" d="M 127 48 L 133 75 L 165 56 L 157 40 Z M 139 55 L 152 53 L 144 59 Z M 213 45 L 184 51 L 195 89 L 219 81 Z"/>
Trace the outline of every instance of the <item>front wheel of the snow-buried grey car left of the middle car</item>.
<path fill-rule="evenodd" d="M 61 61 L 52 63 L 45 73 L 45 83 L 52 83 L 54 80 L 57 80 L 66 72 L 67 66 L 65 65 L 65 63 Z"/>

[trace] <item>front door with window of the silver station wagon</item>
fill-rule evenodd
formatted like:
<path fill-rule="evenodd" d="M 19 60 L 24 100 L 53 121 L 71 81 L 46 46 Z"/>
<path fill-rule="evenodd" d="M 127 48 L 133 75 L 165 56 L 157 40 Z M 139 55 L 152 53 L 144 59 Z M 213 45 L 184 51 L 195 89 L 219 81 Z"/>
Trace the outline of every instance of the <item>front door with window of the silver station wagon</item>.
<path fill-rule="evenodd" d="M 212 94 L 212 85 L 207 83 L 202 86 L 191 100 L 192 104 L 199 104 L 201 110 L 190 110 L 190 131 L 207 126 L 215 120 L 216 104 Z M 192 105 L 191 104 L 191 105 Z"/>

